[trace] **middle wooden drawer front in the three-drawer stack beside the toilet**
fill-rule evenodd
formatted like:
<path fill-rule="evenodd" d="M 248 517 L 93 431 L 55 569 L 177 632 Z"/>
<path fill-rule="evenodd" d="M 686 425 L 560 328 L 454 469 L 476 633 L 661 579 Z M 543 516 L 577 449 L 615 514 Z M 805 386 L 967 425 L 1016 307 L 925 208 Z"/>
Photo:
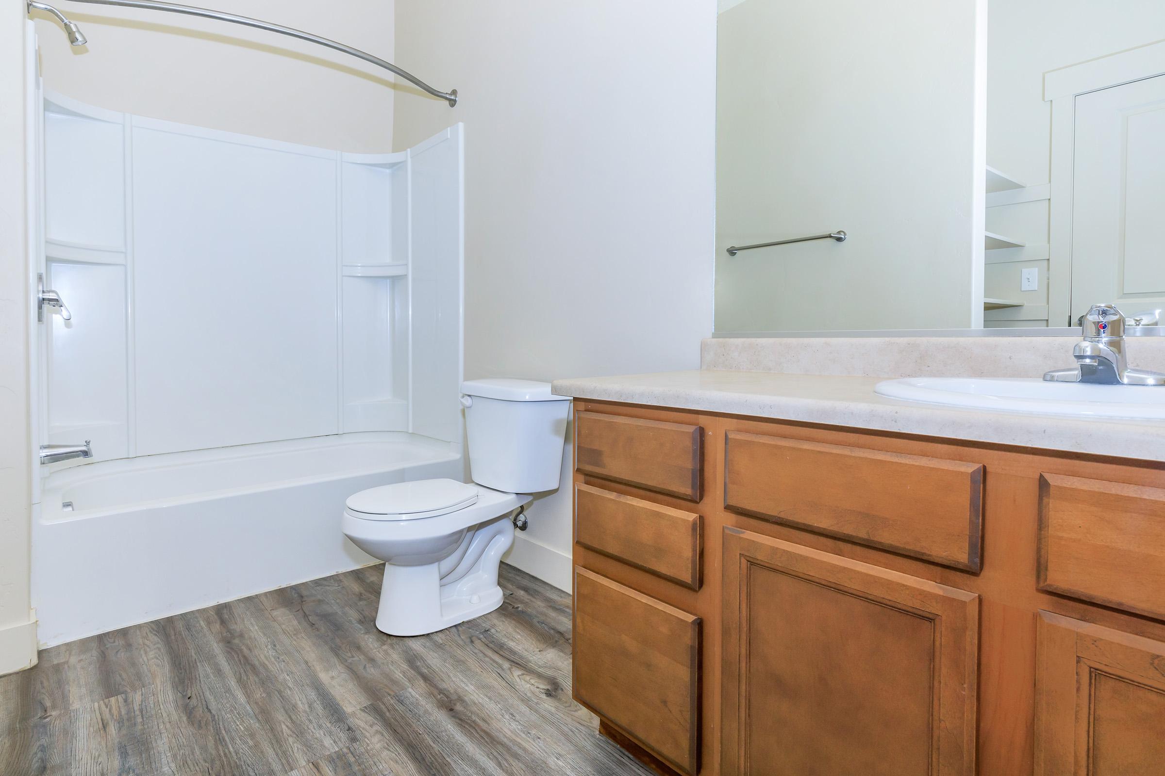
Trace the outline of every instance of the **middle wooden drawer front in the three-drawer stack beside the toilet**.
<path fill-rule="evenodd" d="M 700 589 L 700 515 L 582 484 L 574 486 L 574 515 L 579 544 Z"/>

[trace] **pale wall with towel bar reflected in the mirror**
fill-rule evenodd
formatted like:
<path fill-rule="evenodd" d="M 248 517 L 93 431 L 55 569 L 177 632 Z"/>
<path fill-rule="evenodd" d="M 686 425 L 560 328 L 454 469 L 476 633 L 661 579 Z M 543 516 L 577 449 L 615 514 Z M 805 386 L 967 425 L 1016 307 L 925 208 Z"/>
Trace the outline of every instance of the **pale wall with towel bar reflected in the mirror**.
<path fill-rule="evenodd" d="M 718 332 L 979 325 L 984 12 L 746 0 L 720 14 Z M 846 242 L 725 250 L 835 229 Z"/>

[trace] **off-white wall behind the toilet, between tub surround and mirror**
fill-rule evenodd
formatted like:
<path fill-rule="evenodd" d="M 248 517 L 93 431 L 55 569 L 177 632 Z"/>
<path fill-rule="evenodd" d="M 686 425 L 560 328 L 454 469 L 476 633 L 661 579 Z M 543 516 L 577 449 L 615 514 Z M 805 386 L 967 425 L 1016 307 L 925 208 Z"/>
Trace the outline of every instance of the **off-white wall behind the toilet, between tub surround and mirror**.
<path fill-rule="evenodd" d="M 465 122 L 465 375 L 699 366 L 712 325 L 714 0 L 397 0 L 394 147 Z M 570 450 L 510 562 L 570 589 Z"/>

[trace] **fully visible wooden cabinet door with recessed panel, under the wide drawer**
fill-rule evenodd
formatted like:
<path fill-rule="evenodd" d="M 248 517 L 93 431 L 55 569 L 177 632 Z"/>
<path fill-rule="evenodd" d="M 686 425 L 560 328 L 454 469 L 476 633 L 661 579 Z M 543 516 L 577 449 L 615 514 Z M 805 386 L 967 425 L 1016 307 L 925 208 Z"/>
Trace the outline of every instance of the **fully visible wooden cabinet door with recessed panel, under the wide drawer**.
<path fill-rule="evenodd" d="M 723 535 L 723 776 L 972 776 L 979 597 Z"/>

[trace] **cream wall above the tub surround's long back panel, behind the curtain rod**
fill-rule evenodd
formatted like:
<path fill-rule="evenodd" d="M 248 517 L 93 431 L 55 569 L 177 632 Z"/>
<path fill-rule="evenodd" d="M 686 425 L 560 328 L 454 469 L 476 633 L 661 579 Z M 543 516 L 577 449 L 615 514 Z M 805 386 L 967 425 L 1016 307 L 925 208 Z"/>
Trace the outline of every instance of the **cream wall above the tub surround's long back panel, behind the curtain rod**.
<path fill-rule="evenodd" d="M 411 71 L 409 63 L 394 60 L 393 0 L 205 5 L 332 38 Z M 62 9 L 89 45 L 71 48 L 56 21 L 34 14 L 50 90 L 113 111 L 306 145 L 365 152 L 390 145 L 394 77 L 361 59 L 193 16 L 100 6 Z M 408 105 L 417 98 L 402 99 Z"/>

